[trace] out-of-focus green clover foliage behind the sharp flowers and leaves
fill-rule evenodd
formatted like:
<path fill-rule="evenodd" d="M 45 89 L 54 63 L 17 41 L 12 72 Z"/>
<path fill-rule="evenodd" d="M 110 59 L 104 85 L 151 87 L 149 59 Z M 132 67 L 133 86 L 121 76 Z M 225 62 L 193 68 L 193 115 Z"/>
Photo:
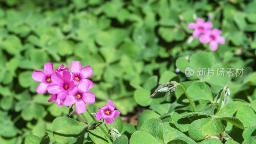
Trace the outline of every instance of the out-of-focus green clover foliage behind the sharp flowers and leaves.
<path fill-rule="evenodd" d="M 54 68 L 70 67 L 72 60 L 91 65 L 96 102 L 88 107 L 96 112 L 113 100 L 122 116 L 138 103 L 170 101 L 150 99 L 150 90 L 171 79 L 185 81 L 175 73 L 175 62 L 197 51 L 244 67 L 248 75 L 256 68 L 255 7 L 253 0 L 0 0 L 0 143 L 52 135 L 52 120 L 67 116 L 67 107 L 48 103 L 48 93 L 36 93 L 39 82 L 31 75 L 46 62 Z M 187 28 L 196 17 L 209 15 L 226 39 L 215 52 L 191 39 L 193 30 Z M 134 97 L 140 86 L 146 89 L 137 92 L 141 100 Z"/>

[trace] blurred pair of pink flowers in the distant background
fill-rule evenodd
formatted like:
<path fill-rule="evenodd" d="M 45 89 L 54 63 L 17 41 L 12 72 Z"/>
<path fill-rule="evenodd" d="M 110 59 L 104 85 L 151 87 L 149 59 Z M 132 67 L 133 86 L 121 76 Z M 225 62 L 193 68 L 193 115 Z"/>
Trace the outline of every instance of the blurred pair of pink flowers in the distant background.
<path fill-rule="evenodd" d="M 212 51 L 218 49 L 218 43 L 225 44 L 225 39 L 220 36 L 221 30 L 217 28 L 211 30 L 211 21 L 204 22 L 203 19 L 196 18 L 196 23 L 190 23 L 188 28 L 195 29 L 193 31 L 193 36 L 195 38 L 199 37 L 201 43 L 210 43 L 210 48 Z"/>

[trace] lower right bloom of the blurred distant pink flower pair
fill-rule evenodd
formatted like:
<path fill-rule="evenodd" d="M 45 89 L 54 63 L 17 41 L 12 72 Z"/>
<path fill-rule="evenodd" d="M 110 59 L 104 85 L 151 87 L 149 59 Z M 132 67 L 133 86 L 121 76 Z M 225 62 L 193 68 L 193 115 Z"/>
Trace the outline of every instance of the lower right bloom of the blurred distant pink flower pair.
<path fill-rule="evenodd" d="M 210 42 L 210 48 L 212 51 L 218 49 L 218 43 L 225 44 L 224 37 L 220 36 L 221 30 L 214 28 L 212 31 L 205 32 L 202 36 L 200 36 L 199 40 L 201 43 Z"/>

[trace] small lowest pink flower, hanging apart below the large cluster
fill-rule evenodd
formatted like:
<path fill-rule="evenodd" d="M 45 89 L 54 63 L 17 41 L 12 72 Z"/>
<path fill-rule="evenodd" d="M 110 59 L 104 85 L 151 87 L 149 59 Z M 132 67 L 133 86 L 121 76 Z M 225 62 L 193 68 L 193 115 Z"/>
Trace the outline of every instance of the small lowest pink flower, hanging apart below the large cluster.
<path fill-rule="evenodd" d="M 108 100 L 108 105 L 98 109 L 101 109 L 101 110 L 96 112 L 96 119 L 100 120 L 101 118 L 104 117 L 104 121 L 108 124 L 113 124 L 114 123 L 113 118 L 116 118 L 117 116 L 120 115 L 119 110 L 114 110 L 115 105 L 112 103 L 111 100 Z"/>

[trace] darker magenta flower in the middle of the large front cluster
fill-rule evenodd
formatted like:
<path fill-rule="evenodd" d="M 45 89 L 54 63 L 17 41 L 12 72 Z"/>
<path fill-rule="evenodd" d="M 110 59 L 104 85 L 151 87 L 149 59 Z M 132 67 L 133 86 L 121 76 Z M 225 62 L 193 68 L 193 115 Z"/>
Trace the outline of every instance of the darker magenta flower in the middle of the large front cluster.
<path fill-rule="evenodd" d="M 59 72 L 55 72 L 52 75 L 54 84 L 49 85 L 47 90 L 51 94 L 58 94 L 58 99 L 65 99 L 68 92 L 72 91 L 75 87 L 74 81 L 71 81 L 69 71 L 63 71 L 62 75 Z"/>

